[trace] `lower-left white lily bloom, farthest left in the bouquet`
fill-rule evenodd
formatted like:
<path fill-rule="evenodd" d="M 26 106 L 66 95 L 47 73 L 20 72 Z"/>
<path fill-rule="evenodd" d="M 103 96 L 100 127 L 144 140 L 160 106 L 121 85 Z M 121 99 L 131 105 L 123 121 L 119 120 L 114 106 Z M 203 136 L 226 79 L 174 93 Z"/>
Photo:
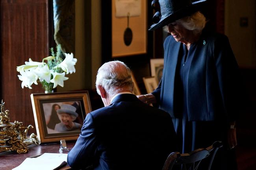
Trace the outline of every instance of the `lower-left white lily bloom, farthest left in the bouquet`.
<path fill-rule="evenodd" d="M 25 70 L 25 71 L 21 70 L 20 74 L 21 75 L 18 75 L 18 77 L 22 81 L 22 83 L 21 83 L 22 88 L 24 88 L 24 86 L 25 86 L 25 87 L 32 89 L 31 85 L 33 83 L 37 84 L 38 76 L 34 72 L 28 71 L 28 70 Z"/>

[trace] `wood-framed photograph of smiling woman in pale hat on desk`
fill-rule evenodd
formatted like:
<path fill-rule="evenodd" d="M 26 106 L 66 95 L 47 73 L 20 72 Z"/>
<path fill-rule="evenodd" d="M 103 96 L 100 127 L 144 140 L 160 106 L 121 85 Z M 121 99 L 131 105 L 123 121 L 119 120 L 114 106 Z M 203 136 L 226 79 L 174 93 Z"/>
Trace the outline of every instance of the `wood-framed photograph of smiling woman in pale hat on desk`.
<path fill-rule="evenodd" d="M 31 94 L 31 100 L 40 143 L 76 140 L 91 112 L 88 91 Z"/>

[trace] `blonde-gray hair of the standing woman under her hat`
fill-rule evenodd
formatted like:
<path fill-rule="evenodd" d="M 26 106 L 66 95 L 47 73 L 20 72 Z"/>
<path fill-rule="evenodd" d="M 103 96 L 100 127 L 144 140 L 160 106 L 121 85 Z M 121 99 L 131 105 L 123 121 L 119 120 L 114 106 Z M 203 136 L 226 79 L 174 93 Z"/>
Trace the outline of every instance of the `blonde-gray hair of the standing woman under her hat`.
<path fill-rule="evenodd" d="M 193 31 L 196 34 L 200 33 L 202 29 L 204 29 L 207 21 L 205 16 L 200 11 L 197 11 L 193 13 L 191 16 L 185 16 L 184 18 L 176 20 L 176 22 L 181 24 L 184 28 Z M 168 32 L 167 26 L 165 26 L 163 29 Z"/>

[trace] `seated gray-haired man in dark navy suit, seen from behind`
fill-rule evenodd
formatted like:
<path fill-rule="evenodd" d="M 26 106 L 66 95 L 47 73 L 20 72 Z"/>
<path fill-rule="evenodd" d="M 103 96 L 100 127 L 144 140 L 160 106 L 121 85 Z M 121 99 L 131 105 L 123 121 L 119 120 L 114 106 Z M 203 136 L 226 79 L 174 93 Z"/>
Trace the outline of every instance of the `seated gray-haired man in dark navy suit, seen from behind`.
<path fill-rule="evenodd" d="M 71 168 L 161 170 L 176 151 L 170 115 L 137 99 L 133 86 L 123 62 L 107 62 L 98 69 L 96 89 L 105 107 L 87 114 L 67 157 Z"/>

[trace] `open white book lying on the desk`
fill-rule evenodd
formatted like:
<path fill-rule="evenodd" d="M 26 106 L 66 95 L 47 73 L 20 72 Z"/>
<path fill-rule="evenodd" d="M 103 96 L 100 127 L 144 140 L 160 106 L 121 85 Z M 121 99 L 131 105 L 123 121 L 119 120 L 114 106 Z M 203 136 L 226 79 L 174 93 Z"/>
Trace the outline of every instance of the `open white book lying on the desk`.
<path fill-rule="evenodd" d="M 36 158 L 26 158 L 12 170 L 58 170 L 67 165 L 67 155 L 45 153 Z"/>

